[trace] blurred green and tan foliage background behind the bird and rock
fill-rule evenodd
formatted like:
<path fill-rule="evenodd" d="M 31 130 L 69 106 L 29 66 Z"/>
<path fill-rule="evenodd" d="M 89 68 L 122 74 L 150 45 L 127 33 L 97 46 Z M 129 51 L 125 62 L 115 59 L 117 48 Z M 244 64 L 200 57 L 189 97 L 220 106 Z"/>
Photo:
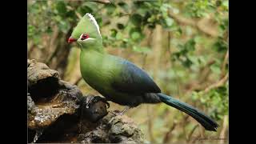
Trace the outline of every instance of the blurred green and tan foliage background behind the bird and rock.
<path fill-rule="evenodd" d="M 66 42 L 79 18 L 91 13 L 110 54 L 142 67 L 163 93 L 205 111 L 220 125 L 217 133 L 208 132 L 170 106 L 141 105 L 126 114 L 141 128 L 146 143 L 228 138 L 228 1 L 107 2 L 29 0 L 28 58 L 58 70 L 83 94 L 98 94 L 81 78 L 78 45 Z M 110 110 L 123 108 L 110 102 Z"/>

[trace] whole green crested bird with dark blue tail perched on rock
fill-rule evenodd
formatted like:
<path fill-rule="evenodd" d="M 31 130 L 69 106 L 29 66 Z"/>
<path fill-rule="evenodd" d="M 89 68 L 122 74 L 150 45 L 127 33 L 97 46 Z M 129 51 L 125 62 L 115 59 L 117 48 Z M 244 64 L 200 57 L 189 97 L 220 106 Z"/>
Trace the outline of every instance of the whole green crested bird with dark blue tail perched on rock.
<path fill-rule="evenodd" d="M 107 54 L 102 46 L 98 23 L 91 14 L 85 14 L 81 18 L 68 42 L 78 42 L 81 46 L 82 78 L 107 101 L 128 108 L 142 103 L 164 102 L 189 114 L 206 130 L 217 130 L 218 124 L 202 111 L 162 94 L 152 78 L 138 66 L 126 59 Z"/>

